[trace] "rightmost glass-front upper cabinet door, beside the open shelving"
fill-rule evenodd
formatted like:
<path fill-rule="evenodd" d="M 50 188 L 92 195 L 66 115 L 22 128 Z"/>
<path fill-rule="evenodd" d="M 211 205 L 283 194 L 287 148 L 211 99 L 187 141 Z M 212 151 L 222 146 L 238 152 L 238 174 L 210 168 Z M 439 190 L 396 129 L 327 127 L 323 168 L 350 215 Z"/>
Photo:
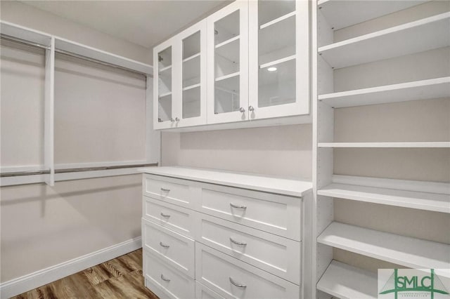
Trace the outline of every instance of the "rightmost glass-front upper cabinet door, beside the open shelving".
<path fill-rule="evenodd" d="M 308 2 L 249 2 L 250 120 L 309 114 Z"/>

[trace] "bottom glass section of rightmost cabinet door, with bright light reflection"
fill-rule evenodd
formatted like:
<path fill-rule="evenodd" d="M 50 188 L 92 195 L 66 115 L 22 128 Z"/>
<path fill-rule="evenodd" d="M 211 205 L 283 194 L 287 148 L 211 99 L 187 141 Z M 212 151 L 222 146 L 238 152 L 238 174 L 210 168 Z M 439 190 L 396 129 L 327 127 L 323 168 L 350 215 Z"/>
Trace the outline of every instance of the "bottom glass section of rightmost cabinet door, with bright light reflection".
<path fill-rule="evenodd" d="M 259 69 L 258 107 L 295 102 L 295 59 Z"/>

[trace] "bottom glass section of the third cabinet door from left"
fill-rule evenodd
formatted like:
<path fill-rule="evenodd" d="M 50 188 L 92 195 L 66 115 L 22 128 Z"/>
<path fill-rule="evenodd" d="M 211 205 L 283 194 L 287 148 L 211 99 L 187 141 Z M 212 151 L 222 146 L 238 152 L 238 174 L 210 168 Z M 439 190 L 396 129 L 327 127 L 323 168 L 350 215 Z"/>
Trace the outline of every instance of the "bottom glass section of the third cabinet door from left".
<path fill-rule="evenodd" d="M 239 103 L 239 76 L 216 81 L 214 114 L 238 111 Z"/>

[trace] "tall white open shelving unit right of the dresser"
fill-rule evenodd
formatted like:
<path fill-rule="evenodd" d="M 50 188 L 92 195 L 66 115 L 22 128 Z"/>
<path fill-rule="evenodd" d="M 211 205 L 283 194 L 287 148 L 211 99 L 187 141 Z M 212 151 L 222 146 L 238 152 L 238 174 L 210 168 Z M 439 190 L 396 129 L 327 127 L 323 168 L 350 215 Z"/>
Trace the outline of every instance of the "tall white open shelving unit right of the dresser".
<path fill-rule="evenodd" d="M 378 176 L 377 178 L 353 176 L 352 173 L 338 175 L 335 174 L 335 159 L 351 161 L 351 158 L 345 156 L 348 151 L 364 151 L 368 157 L 374 153 L 378 154 L 376 157 L 380 160 L 377 163 L 383 164 L 385 163 L 383 153 L 389 152 L 390 149 L 398 149 L 399 152 L 420 150 L 420 153 L 432 155 L 448 149 L 450 142 L 448 139 L 430 140 L 428 136 L 421 135 L 411 138 L 411 141 L 397 137 L 397 140 L 385 138 L 389 140 L 385 142 L 381 137 L 384 132 L 377 132 L 374 134 L 376 137 L 370 136 L 371 132 L 367 132 L 367 136 L 352 138 L 352 142 L 345 142 L 345 137 L 342 136 L 346 133 L 335 131 L 335 117 L 352 115 L 360 111 L 368 113 L 371 109 L 377 111 L 382 109 L 383 105 L 396 102 L 405 102 L 407 105 L 407 102 L 421 101 L 423 105 L 434 105 L 437 99 L 449 98 L 450 72 L 430 70 L 427 66 L 424 67 L 424 72 L 417 67 L 413 71 L 414 76 L 409 76 L 408 68 L 405 68 L 404 72 L 397 68 L 406 61 L 415 62 L 409 57 L 422 58 L 423 61 L 420 60 L 418 65 L 420 63 L 431 65 L 428 62 L 434 58 L 423 53 L 444 51 L 445 47 L 450 46 L 450 12 L 448 7 L 443 8 L 439 3 L 432 1 L 319 0 L 316 4 L 313 10 L 313 32 L 314 30 L 317 32 L 313 37 L 313 44 L 316 47 L 316 53 L 313 54 L 315 66 L 313 74 L 316 75 L 313 84 L 315 115 L 313 183 L 316 223 L 313 230 L 317 238 L 313 250 L 313 254 L 316 255 L 315 265 L 311 272 L 312 279 L 317 284 L 316 293 L 311 297 L 377 298 L 377 274 L 371 272 L 373 267 L 370 271 L 365 269 L 367 267 L 364 264 L 365 257 L 372 258 L 371 263 L 380 260 L 380 263 L 388 262 L 404 267 L 449 269 L 450 245 L 434 241 L 435 239 L 411 237 L 415 236 L 416 232 L 411 232 L 407 237 L 396 233 L 396 227 L 392 227 L 392 232 L 375 230 L 373 227 L 380 227 L 373 226 L 378 214 L 373 215 L 368 222 L 357 218 L 349 219 L 347 222 L 343 217 L 352 216 L 343 213 L 342 208 L 349 206 L 352 201 L 359 201 L 362 204 L 355 205 L 355 208 L 367 203 L 380 205 L 378 207 L 380 211 L 397 207 L 406 208 L 395 210 L 406 215 L 409 213 L 449 215 L 450 184 L 444 180 L 428 182 L 393 179 L 402 178 L 398 173 L 386 174 L 385 177 L 373 175 Z M 408 15 L 408 18 L 402 18 L 405 15 Z M 416 20 L 411 18 L 412 15 Z M 392 61 L 398 62 L 398 65 L 392 64 L 396 69 L 393 69 L 395 74 L 391 77 L 387 65 Z M 433 62 L 437 63 L 435 60 Z M 335 114 L 335 109 L 347 107 L 349 108 L 345 112 L 348 114 Z M 407 114 L 409 111 L 398 113 Z M 399 117 L 399 121 L 402 120 Z M 342 119 L 336 123 L 340 124 L 338 130 L 347 128 L 339 121 L 342 122 Z M 349 121 L 351 120 L 345 121 L 346 126 L 349 126 Z M 355 126 L 358 124 L 355 123 Z M 376 130 L 373 126 L 366 128 Z M 395 129 L 393 127 L 392 131 Z M 390 133 L 392 132 L 385 134 Z M 361 142 L 358 142 L 358 139 Z M 342 162 L 339 162 L 338 168 L 342 171 Z M 352 167 L 348 169 L 359 168 Z M 368 172 L 364 167 L 366 166 L 361 166 Z M 391 171 L 388 167 L 386 169 L 388 170 L 385 172 Z M 339 214 L 336 219 L 341 222 L 335 220 L 335 213 Z M 355 213 L 358 212 L 355 210 Z M 380 218 L 380 221 L 383 219 Z M 437 230 L 446 228 L 437 227 Z M 333 248 L 339 248 L 340 253 L 337 254 Z M 359 259 L 354 261 L 354 265 L 339 261 L 342 256 L 351 258 L 354 256 L 352 254 L 362 255 L 362 263 Z M 449 277 L 448 270 L 437 271 L 439 275 Z"/>

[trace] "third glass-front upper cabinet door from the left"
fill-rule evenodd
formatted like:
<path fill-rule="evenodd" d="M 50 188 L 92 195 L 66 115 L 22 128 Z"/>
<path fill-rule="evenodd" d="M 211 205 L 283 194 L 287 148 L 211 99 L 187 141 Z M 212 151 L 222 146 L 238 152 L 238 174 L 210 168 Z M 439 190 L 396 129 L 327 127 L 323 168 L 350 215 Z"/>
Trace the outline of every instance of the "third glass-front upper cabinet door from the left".
<path fill-rule="evenodd" d="M 207 123 L 248 119 L 248 1 L 207 18 Z"/>

